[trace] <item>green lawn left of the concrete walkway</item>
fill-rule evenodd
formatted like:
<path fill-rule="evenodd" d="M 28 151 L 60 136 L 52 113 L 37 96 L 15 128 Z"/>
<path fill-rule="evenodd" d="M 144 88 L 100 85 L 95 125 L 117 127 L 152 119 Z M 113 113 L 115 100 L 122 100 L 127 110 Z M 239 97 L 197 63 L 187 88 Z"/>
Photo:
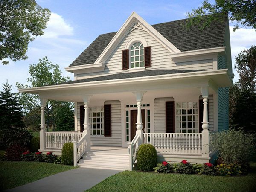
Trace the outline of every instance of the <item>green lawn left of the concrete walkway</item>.
<path fill-rule="evenodd" d="M 70 169 L 74 167 L 43 162 L 0 161 L 0 191 Z"/>

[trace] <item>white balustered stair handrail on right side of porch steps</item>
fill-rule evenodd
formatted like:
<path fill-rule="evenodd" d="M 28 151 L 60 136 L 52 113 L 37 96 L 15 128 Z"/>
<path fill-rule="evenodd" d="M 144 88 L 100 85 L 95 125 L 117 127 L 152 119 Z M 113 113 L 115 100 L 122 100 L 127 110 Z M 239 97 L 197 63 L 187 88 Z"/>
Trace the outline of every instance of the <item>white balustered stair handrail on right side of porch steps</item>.
<path fill-rule="evenodd" d="M 139 150 L 139 146 L 141 144 L 140 136 L 135 135 L 134 139 L 128 143 L 128 154 L 129 154 L 129 167 L 130 170 L 132 170 L 132 167 L 134 166 L 134 163 L 137 159 L 137 153 Z"/>

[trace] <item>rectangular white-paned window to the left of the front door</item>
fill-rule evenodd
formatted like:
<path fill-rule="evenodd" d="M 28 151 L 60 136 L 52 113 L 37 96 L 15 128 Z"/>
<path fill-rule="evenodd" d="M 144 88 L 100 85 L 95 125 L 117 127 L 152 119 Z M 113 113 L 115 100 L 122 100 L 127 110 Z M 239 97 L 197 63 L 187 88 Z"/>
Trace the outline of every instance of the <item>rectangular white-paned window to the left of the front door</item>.
<path fill-rule="evenodd" d="M 104 107 L 89 107 L 91 135 L 104 135 Z"/>

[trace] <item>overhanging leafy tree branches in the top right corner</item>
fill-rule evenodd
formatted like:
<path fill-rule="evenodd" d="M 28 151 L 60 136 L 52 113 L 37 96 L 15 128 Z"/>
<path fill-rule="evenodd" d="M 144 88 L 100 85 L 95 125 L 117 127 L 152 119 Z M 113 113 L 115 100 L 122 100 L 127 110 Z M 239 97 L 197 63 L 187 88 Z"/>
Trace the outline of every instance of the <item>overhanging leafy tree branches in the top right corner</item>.
<path fill-rule="evenodd" d="M 210 26 L 212 21 L 220 19 L 224 21 L 228 17 L 230 22 L 237 22 L 233 31 L 239 29 L 239 23 L 241 27 L 256 29 L 256 2 L 255 0 L 215 0 L 215 4 L 211 4 L 209 0 L 204 0 L 200 7 L 188 12 L 187 17 L 189 20 L 186 26 L 189 28 L 197 25 L 200 29 L 204 29 Z"/>

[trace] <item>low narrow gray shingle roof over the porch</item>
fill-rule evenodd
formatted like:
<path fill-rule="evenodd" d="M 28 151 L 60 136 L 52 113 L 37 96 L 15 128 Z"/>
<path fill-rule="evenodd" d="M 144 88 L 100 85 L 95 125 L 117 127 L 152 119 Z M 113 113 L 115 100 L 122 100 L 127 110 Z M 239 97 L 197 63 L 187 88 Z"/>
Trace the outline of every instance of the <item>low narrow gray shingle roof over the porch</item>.
<path fill-rule="evenodd" d="M 116 73 L 112 75 L 93 77 L 88 79 L 80 79 L 75 81 L 68 81 L 58 84 L 73 84 L 73 83 L 84 83 L 84 82 L 93 82 L 93 81 L 106 81 L 106 80 L 114 80 L 114 79 L 126 79 L 126 78 L 134 78 L 134 77 L 146 77 L 146 76 L 158 76 L 158 75 L 167 75 L 167 74 L 175 74 L 175 73 L 188 73 L 188 72 L 196 72 L 202 70 L 145 70 L 138 72 L 130 72 L 130 73 Z M 58 85 L 55 84 L 55 85 Z"/>

